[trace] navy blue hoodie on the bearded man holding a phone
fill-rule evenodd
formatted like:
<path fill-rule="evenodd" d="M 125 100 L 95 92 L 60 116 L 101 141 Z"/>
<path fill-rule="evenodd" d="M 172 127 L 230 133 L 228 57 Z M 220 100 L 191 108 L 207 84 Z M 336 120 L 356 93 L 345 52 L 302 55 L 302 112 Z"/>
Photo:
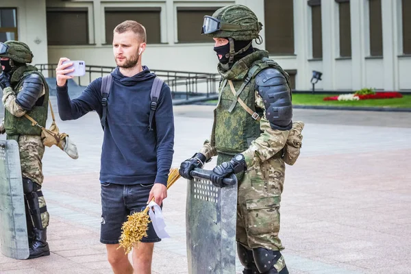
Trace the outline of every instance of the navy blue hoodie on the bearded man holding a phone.
<path fill-rule="evenodd" d="M 122 75 L 119 68 L 111 73 L 113 82 L 101 151 L 101 182 L 167 183 L 174 152 L 171 92 L 169 86 L 162 86 L 153 121 L 155 128 L 150 132 L 150 92 L 155 74 L 150 73 L 147 66 L 142 69 L 132 77 Z M 73 100 L 67 86 L 57 86 L 57 100 L 62 120 L 78 119 L 92 110 L 101 117 L 101 78 L 95 79 Z"/>

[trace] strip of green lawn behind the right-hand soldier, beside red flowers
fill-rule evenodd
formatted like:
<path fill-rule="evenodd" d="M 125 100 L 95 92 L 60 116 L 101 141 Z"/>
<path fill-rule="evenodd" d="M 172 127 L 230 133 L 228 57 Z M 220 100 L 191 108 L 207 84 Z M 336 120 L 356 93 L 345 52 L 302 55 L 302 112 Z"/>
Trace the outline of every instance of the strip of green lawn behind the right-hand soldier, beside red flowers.
<path fill-rule="evenodd" d="M 411 108 L 411 95 L 393 99 L 367 99 L 359 101 L 323 101 L 324 97 L 338 96 L 338 94 L 311 95 L 295 93 L 292 95 L 293 105 L 331 105 L 349 107 L 378 107 L 378 108 Z M 213 105 L 217 100 L 206 101 Z"/>

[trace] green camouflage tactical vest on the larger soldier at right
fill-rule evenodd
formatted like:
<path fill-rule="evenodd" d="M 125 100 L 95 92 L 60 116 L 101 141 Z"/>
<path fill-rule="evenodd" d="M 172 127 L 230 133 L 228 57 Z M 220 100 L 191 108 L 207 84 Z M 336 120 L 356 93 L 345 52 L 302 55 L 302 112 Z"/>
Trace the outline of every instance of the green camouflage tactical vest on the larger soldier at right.
<path fill-rule="evenodd" d="M 242 65 L 241 67 L 244 68 L 243 71 L 238 73 L 238 77 L 232 79 L 236 92 L 240 90 L 243 83 L 245 84 L 239 98 L 242 99 L 253 112 L 257 112 L 260 116 L 263 116 L 263 110 L 256 109 L 255 104 L 256 75 L 263 69 L 272 67 L 280 71 L 284 77 L 286 77 L 288 86 L 290 86 L 289 75 L 276 62 L 269 60 L 267 58 L 268 54 L 264 54 L 265 52 L 266 51 L 256 51 L 251 53 L 251 55 L 255 54 L 260 58 L 252 62 L 251 66 L 246 68 Z M 245 58 L 247 58 L 247 56 Z M 236 64 L 234 64 L 234 66 L 235 65 Z M 211 144 L 216 147 L 218 153 L 235 155 L 236 153 L 241 153 L 242 151 L 247 150 L 251 145 L 251 141 L 260 136 L 260 121 L 254 119 L 238 102 L 232 111 L 229 112 L 230 108 L 232 108 L 232 103 L 237 100 L 227 79 L 222 79 L 219 92 L 219 103 L 214 110 L 214 125 Z"/>

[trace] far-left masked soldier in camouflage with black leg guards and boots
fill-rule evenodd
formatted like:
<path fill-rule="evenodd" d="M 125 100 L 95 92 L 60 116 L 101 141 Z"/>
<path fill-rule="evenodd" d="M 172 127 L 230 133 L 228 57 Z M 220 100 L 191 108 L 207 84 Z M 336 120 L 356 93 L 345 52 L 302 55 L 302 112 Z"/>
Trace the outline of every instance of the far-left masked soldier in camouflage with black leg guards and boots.
<path fill-rule="evenodd" d="M 28 114 L 45 127 L 49 103 L 49 88 L 45 78 L 35 66 L 29 47 L 18 41 L 0 43 L 0 88 L 5 108 L 0 133 L 8 140 L 16 140 L 20 151 L 21 173 L 29 236 L 29 259 L 50 255 L 47 243 L 47 212 L 42 195 L 42 144 L 41 128 L 33 126 L 24 115 Z"/>

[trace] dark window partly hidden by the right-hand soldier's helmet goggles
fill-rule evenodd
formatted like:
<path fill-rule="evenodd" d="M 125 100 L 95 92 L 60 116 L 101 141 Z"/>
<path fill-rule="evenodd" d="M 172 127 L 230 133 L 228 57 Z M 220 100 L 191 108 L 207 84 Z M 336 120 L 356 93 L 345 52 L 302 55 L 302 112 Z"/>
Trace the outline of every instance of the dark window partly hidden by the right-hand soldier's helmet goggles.
<path fill-rule="evenodd" d="M 178 42 L 213 42 L 210 36 L 201 35 L 204 16 L 212 16 L 219 8 L 177 8 L 177 40 Z"/>

